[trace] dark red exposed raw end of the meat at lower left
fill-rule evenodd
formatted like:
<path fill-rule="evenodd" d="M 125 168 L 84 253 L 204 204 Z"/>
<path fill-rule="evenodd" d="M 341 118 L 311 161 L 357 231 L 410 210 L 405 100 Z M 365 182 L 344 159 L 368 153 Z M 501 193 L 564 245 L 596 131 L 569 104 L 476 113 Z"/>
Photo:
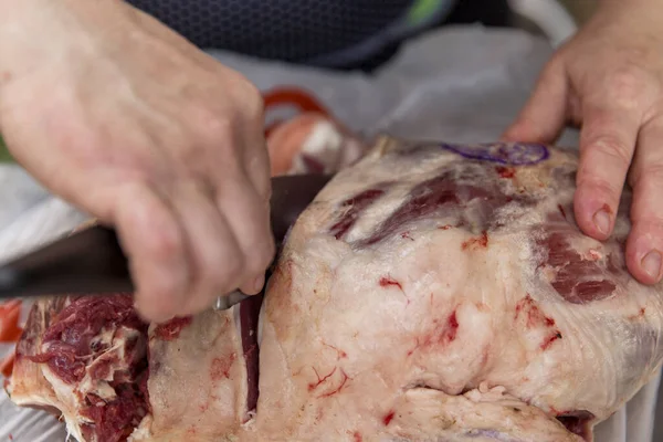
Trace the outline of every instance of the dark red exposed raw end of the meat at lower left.
<path fill-rule="evenodd" d="M 12 399 L 61 412 L 78 440 L 126 440 L 149 407 L 146 338 L 131 296 L 42 301 L 17 347 Z"/>

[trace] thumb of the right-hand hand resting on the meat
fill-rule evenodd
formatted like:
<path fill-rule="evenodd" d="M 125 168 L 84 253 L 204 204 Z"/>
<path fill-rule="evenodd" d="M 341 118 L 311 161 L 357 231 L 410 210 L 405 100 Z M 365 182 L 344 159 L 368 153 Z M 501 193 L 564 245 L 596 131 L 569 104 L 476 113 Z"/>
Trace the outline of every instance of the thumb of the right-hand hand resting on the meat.
<path fill-rule="evenodd" d="M 502 138 L 523 143 L 555 141 L 566 123 L 568 90 L 564 64 L 549 62 L 539 75 L 534 93 Z"/>

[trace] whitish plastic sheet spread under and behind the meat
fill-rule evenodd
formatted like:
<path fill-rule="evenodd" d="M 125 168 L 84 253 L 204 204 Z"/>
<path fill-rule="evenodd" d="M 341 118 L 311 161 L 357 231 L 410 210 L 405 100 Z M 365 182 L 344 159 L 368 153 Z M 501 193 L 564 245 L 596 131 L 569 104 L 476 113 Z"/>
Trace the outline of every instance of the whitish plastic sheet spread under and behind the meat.
<path fill-rule="evenodd" d="M 212 52 L 260 88 L 294 85 L 312 92 L 350 129 L 446 141 L 496 139 L 525 103 L 551 54 L 544 40 L 519 31 L 462 27 L 409 43 L 372 76 L 329 73 Z M 567 130 L 559 144 L 577 145 Z M 59 235 L 84 218 L 49 197 L 24 173 L 0 168 L 0 257 Z M 0 346 L 0 357 L 8 351 Z M 597 442 L 651 442 L 659 376 L 597 429 Z M 63 441 L 62 425 L 18 410 L 0 393 L 0 442 Z"/>

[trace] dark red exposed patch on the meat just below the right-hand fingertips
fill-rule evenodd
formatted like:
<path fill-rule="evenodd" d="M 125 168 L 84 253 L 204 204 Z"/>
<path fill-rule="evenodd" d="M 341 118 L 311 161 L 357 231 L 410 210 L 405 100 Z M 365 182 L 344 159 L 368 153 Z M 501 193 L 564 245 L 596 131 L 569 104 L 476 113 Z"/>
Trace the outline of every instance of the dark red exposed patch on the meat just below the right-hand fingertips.
<path fill-rule="evenodd" d="M 539 246 L 548 251 L 547 259 L 539 263 L 539 269 L 548 266 L 555 271 L 550 284 L 571 304 L 585 304 L 611 296 L 617 285 L 603 277 L 600 261 L 585 260 L 571 249 L 568 241 L 571 233 L 575 232 L 552 231 L 537 241 Z M 610 260 L 606 267 L 610 266 L 609 262 Z"/>

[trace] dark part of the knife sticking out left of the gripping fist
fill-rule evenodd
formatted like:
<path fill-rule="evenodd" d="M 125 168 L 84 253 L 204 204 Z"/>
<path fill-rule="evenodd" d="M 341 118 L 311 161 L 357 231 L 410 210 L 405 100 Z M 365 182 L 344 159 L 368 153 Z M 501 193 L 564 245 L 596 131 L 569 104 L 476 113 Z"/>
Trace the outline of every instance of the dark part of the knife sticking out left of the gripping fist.
<path fill-rule="evenodd" d="M 0 299 L 45 293 L 133 293 L 127 257 L 114 230 L 95 225 L 0 267 Z"/>

